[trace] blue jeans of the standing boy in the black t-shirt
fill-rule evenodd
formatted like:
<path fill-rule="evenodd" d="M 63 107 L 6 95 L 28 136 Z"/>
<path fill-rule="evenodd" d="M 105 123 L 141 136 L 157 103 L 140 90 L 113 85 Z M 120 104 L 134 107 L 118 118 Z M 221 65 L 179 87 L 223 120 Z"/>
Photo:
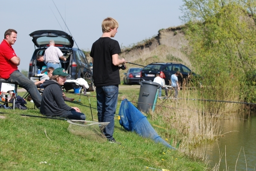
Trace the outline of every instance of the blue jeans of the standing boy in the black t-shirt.
<path fill-rule="evenodd" d="M 96 87 L 97 110 L 99 122 L 110 122 L 103 133 L 107 139 L 113 139 L 114 116 L 116 113 L 118 85 Z"/>

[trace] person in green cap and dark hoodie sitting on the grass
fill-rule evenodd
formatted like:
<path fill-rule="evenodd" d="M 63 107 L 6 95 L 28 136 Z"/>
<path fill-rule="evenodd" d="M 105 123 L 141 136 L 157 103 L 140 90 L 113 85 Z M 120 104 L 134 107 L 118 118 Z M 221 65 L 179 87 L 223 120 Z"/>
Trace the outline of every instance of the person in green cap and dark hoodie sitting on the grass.
<path fill-rule="evenodd" d="M 85 120 L 84 113 L 81 113 L 78 107 L 70 107 L 64 102 L 61 86 L 67 80 L 67 75 L 69 74 L 64 68 L 56 68 L 52 77 L 44 81 L 40 112 L 46 116 Z"/>

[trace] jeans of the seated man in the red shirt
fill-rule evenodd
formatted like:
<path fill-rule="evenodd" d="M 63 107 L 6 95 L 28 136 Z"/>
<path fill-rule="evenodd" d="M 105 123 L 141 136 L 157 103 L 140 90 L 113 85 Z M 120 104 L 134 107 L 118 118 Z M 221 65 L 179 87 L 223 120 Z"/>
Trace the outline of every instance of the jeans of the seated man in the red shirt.
<path fill-rule="evenodd" d="M 8 81 L 10 81 L 12 83 L 16 83 L 19 85 L 19 87 L 26 89 L 26 91 L 29 92 L 29 95 L 31 96 L 32 100 L 34 101 L 35 106 L 37 108 L 41 107 L 42 96 L 40 95 L 40 93 L 37 90 L 37 87 L 33 81 L 29 80 L 29 78 L 26 78 L 26 76 L 23 75 L 22 73 L 20 73 L 19 70 L 12 72 Z M 17 93 L 17 92 L 15 92 L 15 93 Z"/>

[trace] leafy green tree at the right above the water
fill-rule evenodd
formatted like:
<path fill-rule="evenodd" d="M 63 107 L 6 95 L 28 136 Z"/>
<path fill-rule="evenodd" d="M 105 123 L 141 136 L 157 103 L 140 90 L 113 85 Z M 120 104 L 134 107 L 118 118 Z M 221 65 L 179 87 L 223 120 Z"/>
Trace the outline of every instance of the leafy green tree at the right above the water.
<path fill-rule="evenodd" d="M 180 18 L 187 26 L 192 64 L 203 78 L 202 96 L 256 102 L 255 0 L 183 2 Z"/>

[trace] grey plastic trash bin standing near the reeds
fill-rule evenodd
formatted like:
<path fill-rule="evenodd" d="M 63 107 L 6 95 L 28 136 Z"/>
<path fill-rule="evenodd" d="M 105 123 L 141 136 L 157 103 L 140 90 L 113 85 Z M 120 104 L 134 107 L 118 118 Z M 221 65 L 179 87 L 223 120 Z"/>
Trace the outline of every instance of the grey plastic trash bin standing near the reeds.
<path fill-rule="evenodd" d="M 148 113 L 150 109 L 152 109 L 157 88 L 160 87 L 160 84 L 152 82 L 152 81 L 141 81 L 140 84 L 140 95 L 138 99 L 137 108 L 140 111 Z"/>

